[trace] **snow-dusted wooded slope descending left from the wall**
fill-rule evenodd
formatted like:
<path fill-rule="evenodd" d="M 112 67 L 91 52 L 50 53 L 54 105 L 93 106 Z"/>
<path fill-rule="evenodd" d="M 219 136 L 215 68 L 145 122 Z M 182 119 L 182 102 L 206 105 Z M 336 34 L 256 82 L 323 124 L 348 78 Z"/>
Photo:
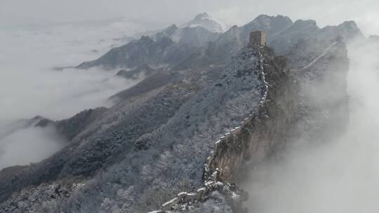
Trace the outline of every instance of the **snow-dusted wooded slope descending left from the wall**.
<path fill-rule="evenodd" d="M 202 165 L 213 142 L 256 109 L 265 88 L 257 66 L 258 58 L 248 49 L 226 68 L 185 73 L 142 97 L 128 97 L 103 112 L 66 149 L 20 171 L 29 175 L 15 174 L 19 181 L 13 187 L 84 175 L 86 186 L 62 208 L 75 212 L 69 205 L 75 206 L 77 196 L 84 199 L 81 208 L 93 212 L 109 212 L 121 202 L 119 208 L 126 212 L 159 207 L 173 194 L 201 185 Z M 119 190 L 127 190 L 128 198 L 105 200 Z M 157 200 L 147 202 L 152 196 Z M 34 205 L 25 207 L 41 208 Z"/>

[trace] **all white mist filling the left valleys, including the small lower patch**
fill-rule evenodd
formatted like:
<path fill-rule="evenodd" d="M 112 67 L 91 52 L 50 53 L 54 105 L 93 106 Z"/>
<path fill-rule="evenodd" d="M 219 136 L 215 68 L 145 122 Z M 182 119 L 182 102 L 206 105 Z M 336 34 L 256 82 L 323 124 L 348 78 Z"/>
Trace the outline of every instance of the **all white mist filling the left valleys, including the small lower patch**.
<path fill-rule="evenodd" d="M 118 70 L 54 67 L 94 60 L 142 30 L 124 20 L 0 27 L 0 169 L 39 162 L 67 143 L 52 128 L 15 125 L 20 119 L 57 121 L 112 107 L 110 96 L 138 83 L 115 77 Z"/>

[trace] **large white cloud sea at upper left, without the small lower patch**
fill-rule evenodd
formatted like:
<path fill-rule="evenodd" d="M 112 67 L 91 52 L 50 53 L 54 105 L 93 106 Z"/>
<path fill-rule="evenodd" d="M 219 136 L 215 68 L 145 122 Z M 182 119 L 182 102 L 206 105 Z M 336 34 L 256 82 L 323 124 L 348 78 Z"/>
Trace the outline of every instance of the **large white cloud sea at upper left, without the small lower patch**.
<path fill-rule="evenodd" d="M 91 107 L 133 84 L 115 71 L 65 69 L 93 60 L 127 34 L 122 22 L 103 27 L 58 25 L 0 30 L 0 121 L 36 114 L 62 119 Z M 1 122 L 0 122 L 1 123 Z"/>

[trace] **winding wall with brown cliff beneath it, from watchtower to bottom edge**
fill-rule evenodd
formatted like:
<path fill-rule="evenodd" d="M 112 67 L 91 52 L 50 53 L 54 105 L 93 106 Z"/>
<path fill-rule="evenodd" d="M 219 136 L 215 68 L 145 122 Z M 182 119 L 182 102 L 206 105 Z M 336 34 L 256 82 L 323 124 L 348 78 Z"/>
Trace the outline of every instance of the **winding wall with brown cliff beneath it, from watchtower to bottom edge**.
<path fill-rule="evenodd" d="M 225 195 L 233 212 L 246 212 L 241 205 L 247 200 L 235 184 L 243 179 L 237 173 L 242 167 L 251 167 L 281 149 L 286 140 L 286 130 L 294 122 L 296 110 L 295 90 L 297 86 L 288 74 L 286 59 L 274 55 L 267 46 L 250 46 L 259 59 L 258 70 L 264 94 L 257 113 L 249 114 L 241 125 L 225 133 L 215 142 L 211 155 L 204 164 L 204 186 L 194 192 L 178 193 L 177 197 L 165 202 L 161 209 L 149 213 L 170 212 L 175 207 L 204 202 L 214 191 Z M 270 64 L 270 65 L 269 65 Z"/>

